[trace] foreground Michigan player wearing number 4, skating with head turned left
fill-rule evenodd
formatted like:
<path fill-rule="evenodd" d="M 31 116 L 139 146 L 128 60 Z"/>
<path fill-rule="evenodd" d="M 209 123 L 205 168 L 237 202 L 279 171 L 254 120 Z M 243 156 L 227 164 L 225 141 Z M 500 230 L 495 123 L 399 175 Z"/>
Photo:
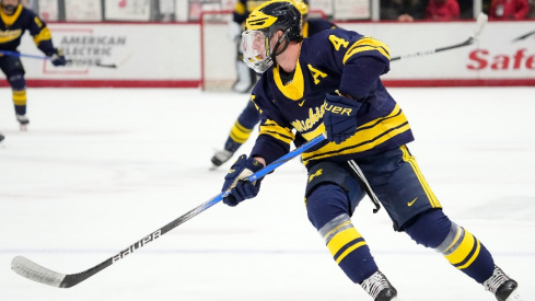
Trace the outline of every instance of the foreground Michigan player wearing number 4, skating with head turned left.
<path fill-rule="evenodd" d="M 420 172 L 407 147 L 414 140 L 408 120 L 380 80 L 389 70 L 384 43 L 340 28 L 303 39 L 300 13 L 284 0 L 253 11 L 242 36 L 244 60 L 263 73 L 252 92 L 261 121 L 249 157 L 241 155 L 224 178 L 222 190 L 231 189 L 224 204 L 255 197 L 261 180 L 241 180 L 288 153 L 292 141 L 300 146 L 326 132 L 326 141 L 302 155 L 309 219 L 338 266 L 373 300 L 398 299 L 351 222 L 364 190 L 375 194 L 396 231 L 442 254 L 497 300 L 521 300 L 516 281 L 444 215 Z"/>

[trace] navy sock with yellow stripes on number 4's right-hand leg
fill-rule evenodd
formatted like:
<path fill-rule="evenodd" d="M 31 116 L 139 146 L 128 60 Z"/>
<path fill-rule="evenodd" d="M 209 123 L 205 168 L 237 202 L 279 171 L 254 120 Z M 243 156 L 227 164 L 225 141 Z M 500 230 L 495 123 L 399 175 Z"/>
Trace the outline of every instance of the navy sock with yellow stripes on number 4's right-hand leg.
<path fill-rule="evenodd" d="M 495 268 L 492 256 L 470 232 L 452 222 L 442 210 L 427 211 L 405 228 L 417 243 L 432 247 L 457 269 L 482 283 Z"/>

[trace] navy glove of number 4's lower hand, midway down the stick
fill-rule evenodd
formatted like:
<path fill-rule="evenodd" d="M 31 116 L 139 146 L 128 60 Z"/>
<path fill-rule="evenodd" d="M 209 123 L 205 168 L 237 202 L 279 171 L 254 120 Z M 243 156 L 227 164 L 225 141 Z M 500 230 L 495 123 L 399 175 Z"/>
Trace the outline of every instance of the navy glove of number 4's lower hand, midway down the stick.
<path fill-rule="evenodd" d="M 244 181 L 247 176 L 261 170 L 264 165 L 254 158 L 247 158 L 242 154 L 231 166 L 231 170 L 224 177 L 224 184 L 221 192 L 231 189 L 231 194 L 223 198 L 223 202 L 229 206 L 236 206 L 247 198 L 254 198 L 260 190 L 261 178 L 255 182 Z"/>

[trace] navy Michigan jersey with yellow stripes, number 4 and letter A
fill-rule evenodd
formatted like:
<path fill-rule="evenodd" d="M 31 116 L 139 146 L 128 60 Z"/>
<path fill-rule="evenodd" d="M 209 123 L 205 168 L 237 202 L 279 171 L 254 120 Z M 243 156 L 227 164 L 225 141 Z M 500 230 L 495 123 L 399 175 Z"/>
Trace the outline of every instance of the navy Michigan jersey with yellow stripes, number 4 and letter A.
<path fill-rule="evenodd" d="M 315 160 L 347 161 L 412 141 L 405 114 L 379 78 L 388 70 L 388 47 L 373 37 L 336 28 L 305 38 L 291 82 L 282 83 L 275 65 L 253 89 L 261 123 L 251 155 L 270 163 L 287 153 L 292 141 L 299 147 L 324 132 L 325 95 L 336 90 L 362 103 L 357 134 L 340 144 L 324 141 L 303 153 L 307 167 Z"/>

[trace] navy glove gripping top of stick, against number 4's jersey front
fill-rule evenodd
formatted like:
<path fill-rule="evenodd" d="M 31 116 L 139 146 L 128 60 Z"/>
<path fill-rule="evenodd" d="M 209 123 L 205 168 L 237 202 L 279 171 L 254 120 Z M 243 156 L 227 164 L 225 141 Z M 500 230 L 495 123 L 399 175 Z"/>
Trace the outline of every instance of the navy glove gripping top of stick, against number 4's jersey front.
<path fill-rule="evenodd" d="M 357 132 L 357 112 L 361 103 L 339 94 L 326 95 L 323 124 L 327 139 L 337 144 Z"/>

